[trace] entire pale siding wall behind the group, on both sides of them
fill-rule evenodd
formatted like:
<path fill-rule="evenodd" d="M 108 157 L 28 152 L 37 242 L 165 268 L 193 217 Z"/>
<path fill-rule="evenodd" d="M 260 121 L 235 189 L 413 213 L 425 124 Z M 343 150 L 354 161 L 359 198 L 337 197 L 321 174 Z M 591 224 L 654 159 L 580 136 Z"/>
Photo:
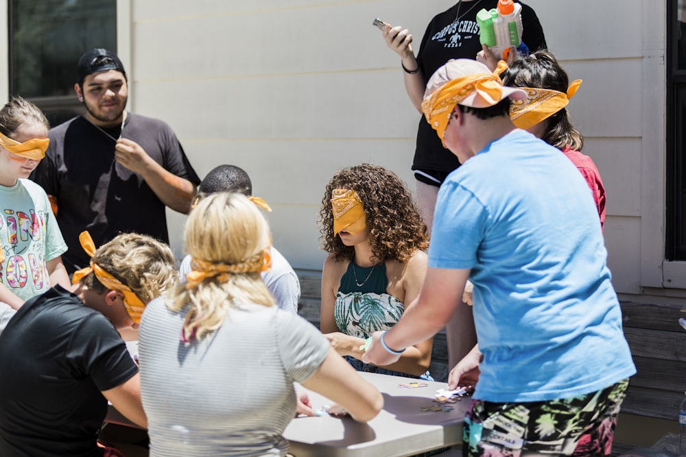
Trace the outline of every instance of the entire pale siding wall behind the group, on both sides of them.
<path fill-rule="evenodd" d="M 651 0 L 529 0 L 571 79 L 569 105 L 607 190 L 619 293 L 662 286 L 665 6 Z M 319 269 L 316 219 L 334 171 L 359 162 L 410 172 L 419 114 L 375 17 L 416 45 L 438 0 L 119 0 L 131 108 L 176 130 L 198 174 L 232 163 L 270 203 L 274 243 Z M 126 18 L 130 17 L 130 21 Z M 560 202 L 560 204 L 564 204 Z M 184 218 L 171 214 L 182 254 Z"/>

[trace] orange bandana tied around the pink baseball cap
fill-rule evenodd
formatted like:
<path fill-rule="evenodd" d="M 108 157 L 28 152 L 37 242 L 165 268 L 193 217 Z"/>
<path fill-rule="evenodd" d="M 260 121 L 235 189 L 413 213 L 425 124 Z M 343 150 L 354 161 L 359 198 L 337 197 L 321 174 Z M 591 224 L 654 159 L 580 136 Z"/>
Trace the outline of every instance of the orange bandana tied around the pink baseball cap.
<path fill-rule="evenodd" d="M 441 141 L 455 106 L 468 95 L 475 93 L 474 103 L 470 103 L 473 108 L 494 106 L 503 99 L 503 82 L 499 75 L 507 69 L 508 65 L 501 60 L 493 73 L 474 73 L 451 79 L 424 99 L 422 112 Z"/>

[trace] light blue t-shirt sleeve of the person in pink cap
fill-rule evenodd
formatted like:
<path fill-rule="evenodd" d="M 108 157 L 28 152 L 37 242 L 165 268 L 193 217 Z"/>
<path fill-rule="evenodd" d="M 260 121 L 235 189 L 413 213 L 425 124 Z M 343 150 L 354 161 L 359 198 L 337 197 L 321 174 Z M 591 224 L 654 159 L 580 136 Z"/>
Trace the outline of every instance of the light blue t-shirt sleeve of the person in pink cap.
<path fill-rule="evenodd" d="M 429 267 L 471 269 L 488 226 L 484 204 L 457 182 L 438 191 L 429 244 Z"/>

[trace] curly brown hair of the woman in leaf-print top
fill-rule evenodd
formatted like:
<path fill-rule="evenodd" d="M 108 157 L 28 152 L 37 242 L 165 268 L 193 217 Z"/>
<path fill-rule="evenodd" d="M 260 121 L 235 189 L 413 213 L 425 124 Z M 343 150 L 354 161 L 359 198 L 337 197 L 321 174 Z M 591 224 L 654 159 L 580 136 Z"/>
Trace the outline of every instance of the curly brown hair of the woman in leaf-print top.
<path fill-rule="evenodd" d="M 322 249 L 335 260 L 351 260 L 355 248 L 333 233 L 333 189 L 355 190 L 364 206 L 372 256 L 379 262 L 406 262 L 416 251 L 427 249 L 429 234 L 405 183 L 383 166 L 360 164 L 338 171 L 327 184 L 319 211 Z"/>

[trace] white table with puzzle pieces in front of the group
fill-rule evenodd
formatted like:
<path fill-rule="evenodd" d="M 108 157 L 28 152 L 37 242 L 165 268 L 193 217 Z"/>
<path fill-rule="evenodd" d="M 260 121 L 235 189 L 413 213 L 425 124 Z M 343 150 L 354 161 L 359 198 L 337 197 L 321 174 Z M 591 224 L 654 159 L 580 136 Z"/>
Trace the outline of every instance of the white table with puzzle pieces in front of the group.
<path fill-rule="evenodd" d="M 295 457 L 320 456 L 412 456 L 431 449 L 462 443 L 462 421 L 471 397 L 449 404 L 453 410 L 423 411 L 431 406 L 436 390 L 447 388 L 443 382 L 429 382 L 427 387 L 401 388 L 398 385 L 417 382 L 410 378 L 360 372 L 383 393 L 383 410 L 366 424 L 351 418 L 298 417 L 293 419 L 283 436 Z M 329 401 L 308 391 L 317 410 Z"/>

